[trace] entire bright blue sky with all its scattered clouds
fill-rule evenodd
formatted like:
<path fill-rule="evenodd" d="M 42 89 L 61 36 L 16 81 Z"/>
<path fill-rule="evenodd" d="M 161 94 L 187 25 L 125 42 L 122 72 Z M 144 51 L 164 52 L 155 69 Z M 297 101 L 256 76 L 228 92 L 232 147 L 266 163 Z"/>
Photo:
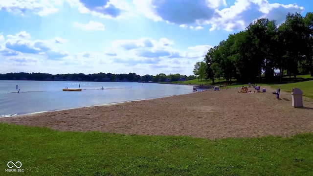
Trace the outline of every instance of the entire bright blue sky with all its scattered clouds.
<path fill-rule="evenodd" d="M 0 73 L 192 75 L 207 50 L 310 0 L 0 0 Z"/>

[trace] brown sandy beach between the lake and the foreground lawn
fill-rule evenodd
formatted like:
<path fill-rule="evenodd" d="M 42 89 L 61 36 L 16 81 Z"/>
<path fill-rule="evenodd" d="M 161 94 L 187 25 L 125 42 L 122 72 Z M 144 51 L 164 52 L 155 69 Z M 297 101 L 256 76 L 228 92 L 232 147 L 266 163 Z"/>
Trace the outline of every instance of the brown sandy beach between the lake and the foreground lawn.
<path fill-rule="evenodd" d="M 264 87 L 263 87 L 264 88 Z M 253 88 L 250 88 L 253 89 Z M 0 118 L 0 123 L 48 127 L 60 131 L 101 131 L 145 135 L 225 137 L 291 136 L 313 132 L 313 100 L 291 106 L 267 92 L 238 93 L 240 88 Z"/>

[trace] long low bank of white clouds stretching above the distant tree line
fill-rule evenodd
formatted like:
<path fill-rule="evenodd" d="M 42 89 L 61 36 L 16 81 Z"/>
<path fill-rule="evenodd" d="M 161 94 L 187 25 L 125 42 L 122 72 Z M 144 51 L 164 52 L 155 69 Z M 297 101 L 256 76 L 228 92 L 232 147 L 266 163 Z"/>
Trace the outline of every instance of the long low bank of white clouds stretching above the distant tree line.
<path fill-rule="evenodd" d="M 36 72 L 52 74 L 135 72 L 143 75 L 163 72 L 189 75 L 192 74 L 190 68 L 195 62 L 203 60 L 203 54 L 210 47 L 197 45 L 180 50 L 167 38 L 139 38 L 113 41 L 112 46 L 106 47 L 101 53 L 80 51 L 71 55 L 62 48 L 63 42 L 60 41 L 67 41 L 65 39 L 55 37 L 45 41 L 31 40 L 30 35 L 25 39 L 19 37 L 19 34 L 7 39 L 4 48 L 0 50 L 1 58 L 5 58 L 0 59 L 0 64 L 9 67 L 2 71 L 33 72 L 35 66 Z"/>

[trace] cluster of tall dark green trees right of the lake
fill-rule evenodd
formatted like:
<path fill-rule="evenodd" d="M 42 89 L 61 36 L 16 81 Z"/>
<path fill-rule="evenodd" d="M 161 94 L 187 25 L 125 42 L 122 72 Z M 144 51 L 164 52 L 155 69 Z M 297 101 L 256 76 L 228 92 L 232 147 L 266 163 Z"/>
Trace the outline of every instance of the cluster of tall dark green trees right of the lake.
<path fill-rule="evenodd" d="M 235 78 L 238 83 L 277 82 L 282 73 L 296 79 L 299 74 L 313 76 L 313 13 L 304 17 L 288 13 L 279 26 L 275 21 L 258 19 L 244 31 L 230 34 L 210 48 L 204 61 L 196 63 L 194 74 L 200 79 Z M 274 77 L 280 70 L 280 79 Z M 264 74 L 264 80 L 261 80 Z"/>

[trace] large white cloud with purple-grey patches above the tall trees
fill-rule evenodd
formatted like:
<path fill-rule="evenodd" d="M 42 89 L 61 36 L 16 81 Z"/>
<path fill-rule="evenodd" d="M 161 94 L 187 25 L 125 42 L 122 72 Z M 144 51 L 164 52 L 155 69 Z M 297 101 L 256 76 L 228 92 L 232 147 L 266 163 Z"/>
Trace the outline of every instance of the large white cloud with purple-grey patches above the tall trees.
<path fill-rule="evenodd" d="M 201 29 L 211 25 L 210 31 L 242 30 L 258 18 L 281 23 L 288 12 L 303 12 L 297 4 L 269 3 L 268 0 L 236 0 L 226 6 L 225 0 L 134 0 L 136 10 L 154 21 L 164 21 L 182 28 Z M 228 4 L 229 5 L 229 4 Z M 187 15 L 188 14 L 188 15 Z M 195 24 L 201 25 L 194 27 Z"/>

